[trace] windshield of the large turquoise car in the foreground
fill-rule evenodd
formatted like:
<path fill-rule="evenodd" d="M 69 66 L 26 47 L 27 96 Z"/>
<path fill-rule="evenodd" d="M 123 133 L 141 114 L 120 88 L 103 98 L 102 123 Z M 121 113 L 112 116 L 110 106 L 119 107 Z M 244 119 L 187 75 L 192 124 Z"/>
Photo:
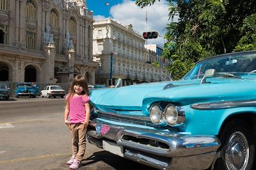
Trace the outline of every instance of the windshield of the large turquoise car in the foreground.
<path fill-rule="evenodd" d="M 256 78 L 256 53 L 228 53 L 226 55 L 220 55 L 219 57 L 211 57 L 202 60 L 198 62 L 182 80 L 202 78 L 207 69 L 215 69 L 216 75 Z"/>

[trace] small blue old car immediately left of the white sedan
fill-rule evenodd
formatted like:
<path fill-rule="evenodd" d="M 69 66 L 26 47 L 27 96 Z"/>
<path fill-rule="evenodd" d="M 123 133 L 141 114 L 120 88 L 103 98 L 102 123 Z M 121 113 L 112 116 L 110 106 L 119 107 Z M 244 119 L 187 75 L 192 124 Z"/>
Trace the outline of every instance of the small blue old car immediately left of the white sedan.
<path fill-rule="evenodd" d="M 20 96 L 29 96 L 30 98 L 36 97 L 36 90 L 33 87 L 32 83 L 18 83 L 15 89 L 15 97 L 19 98 Z"/>

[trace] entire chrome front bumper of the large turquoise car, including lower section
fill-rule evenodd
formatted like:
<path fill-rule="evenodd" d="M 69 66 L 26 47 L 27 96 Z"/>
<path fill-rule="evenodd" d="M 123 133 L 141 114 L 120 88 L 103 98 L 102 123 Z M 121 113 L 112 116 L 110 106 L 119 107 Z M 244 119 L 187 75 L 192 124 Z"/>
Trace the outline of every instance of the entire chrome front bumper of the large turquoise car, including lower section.
<path fill-rule="evenodd" d="M 121 127 L 96 118 L 90 121 L 87 138 L 99 148 L 102 148 L 102 140 L 115 142 L 124 148 L 125 158 L 157 169 L 207 169 L 214 162 L 220 146 L 216 136 Z"/>

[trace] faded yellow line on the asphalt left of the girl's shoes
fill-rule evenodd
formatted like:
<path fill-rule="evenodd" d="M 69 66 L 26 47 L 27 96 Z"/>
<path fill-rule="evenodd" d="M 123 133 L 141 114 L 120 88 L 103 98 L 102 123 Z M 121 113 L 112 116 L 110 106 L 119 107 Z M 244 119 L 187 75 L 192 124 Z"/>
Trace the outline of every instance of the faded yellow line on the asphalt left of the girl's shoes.
<path fill-rule="evenodd" d="M 71 155 L 71 153 L 56 153 L 51 155 L 41 155 L 38 157 L 27 157 L 27 158 L 18 158 L 18 159 L 10 159 L 10 160 L 1 160 L 0 164 L 8 164 L 13 162 L 22 162 L 22 161 L 29 161 L 29 160 L 35 160 L 35 159 L 47 159 L 51 157 L 62 157 L 62 156 L 68 156 Z"/>

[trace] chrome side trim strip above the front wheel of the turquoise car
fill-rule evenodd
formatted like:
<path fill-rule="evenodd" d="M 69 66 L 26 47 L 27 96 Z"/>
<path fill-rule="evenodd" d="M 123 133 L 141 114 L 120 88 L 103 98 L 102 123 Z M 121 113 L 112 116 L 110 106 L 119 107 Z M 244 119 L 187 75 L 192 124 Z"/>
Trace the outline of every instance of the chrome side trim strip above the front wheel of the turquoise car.
<path fill-rule="evenodd" d="M 190 107 L 195 110 L 220 110 L 227 108 L 238 108 L 238 107 L 252 107 L 256 106 L 256 100 L 244 100 L 244 101 L 223 101 L 213 103 L 198 103 L 192 104 Z"/>

